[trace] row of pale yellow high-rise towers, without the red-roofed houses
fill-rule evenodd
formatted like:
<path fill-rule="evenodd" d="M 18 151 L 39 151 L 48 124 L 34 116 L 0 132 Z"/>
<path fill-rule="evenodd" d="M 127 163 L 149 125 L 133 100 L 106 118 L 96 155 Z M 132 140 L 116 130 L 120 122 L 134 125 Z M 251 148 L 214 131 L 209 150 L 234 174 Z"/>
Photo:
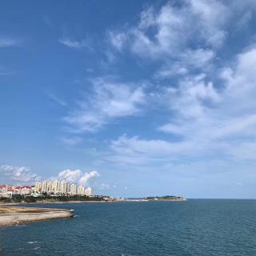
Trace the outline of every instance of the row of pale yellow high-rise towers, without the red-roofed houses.
<path fill-rule="evenodd" d="M 46 194 L 68 194 L 68 195 L 92 195 L 90 187 L 85 188 L 84 186 L 77 186 L 77 183 L 66 182 L 66 180 L 59 181 L 44 181 L 36 182 L 34 186 L 35 193 L 46 193 Z"/>

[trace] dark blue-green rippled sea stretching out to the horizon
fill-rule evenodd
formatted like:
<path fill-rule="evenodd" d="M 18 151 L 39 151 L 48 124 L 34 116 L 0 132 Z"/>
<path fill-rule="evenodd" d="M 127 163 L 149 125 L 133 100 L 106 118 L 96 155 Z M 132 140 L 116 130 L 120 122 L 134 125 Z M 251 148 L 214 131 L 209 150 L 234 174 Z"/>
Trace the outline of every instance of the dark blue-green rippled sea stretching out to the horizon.
<path fill-rule="evenodd" d="M 256 200 L 45 206 L 76 216 L 0 229 L 1 255 L 256 255 Z"/>

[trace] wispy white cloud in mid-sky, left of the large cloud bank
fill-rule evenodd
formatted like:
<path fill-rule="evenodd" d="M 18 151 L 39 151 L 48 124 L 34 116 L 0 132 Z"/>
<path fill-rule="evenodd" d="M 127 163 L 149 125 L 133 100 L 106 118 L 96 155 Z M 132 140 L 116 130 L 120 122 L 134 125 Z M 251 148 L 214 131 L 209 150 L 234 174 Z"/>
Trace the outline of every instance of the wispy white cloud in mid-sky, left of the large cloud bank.
<path fill-rule="evenodd" d="M 94 132 L 114 118 L 136 115 L 145 103 L 143 86 L 95 79 L 92 94 L 64 120 L 78 132 Z"/>

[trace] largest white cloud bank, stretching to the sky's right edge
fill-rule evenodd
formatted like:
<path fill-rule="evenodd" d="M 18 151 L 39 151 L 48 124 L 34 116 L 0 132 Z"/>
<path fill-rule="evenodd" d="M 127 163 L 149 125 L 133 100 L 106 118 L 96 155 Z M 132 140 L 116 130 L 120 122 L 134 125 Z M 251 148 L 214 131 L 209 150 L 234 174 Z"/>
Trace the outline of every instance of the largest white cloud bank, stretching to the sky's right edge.
<path fill-rule="evenodd" d="M 206 74 L 185 76 L 176 86 L 162 86 L 154 103 L 170 109 L 170 122 L 158 130 L 178 138 L 168 141 L 123 135 L 110 143 L 112 151 L 105 160 L 134 166 L 158 162 L 161 166 L 207 156 L 230 161 L 254 159 L 255 46 L 238 54 L 220 76 L 223 83 L 218 89 Z"/>

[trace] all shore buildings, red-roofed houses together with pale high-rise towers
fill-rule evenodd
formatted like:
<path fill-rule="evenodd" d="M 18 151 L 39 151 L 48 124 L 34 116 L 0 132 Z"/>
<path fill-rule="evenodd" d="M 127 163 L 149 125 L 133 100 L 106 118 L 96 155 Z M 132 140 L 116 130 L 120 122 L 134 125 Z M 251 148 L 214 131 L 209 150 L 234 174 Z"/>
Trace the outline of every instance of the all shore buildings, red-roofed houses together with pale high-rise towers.
<path fill-rule="evenodd" d="M 36 182 L 34 186 L 0 185 L 0 198 L 14 198 L 19 195 L 38 197 L 42 194 L 91 196 L 92 189 L 90 187 L 77 186 L 76 183 L 66 182 L 66 180 Z"/>

